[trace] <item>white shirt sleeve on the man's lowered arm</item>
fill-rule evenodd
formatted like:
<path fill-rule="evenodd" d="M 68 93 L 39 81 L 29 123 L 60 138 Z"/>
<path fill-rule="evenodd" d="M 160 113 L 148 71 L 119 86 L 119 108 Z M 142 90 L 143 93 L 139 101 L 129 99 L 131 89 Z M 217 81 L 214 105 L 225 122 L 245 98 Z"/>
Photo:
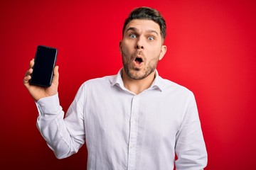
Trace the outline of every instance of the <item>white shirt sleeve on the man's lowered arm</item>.
<path fill-rule="evenodd" d="M 176 170 L 198 170 L 206 167 L 207 152 L 203 140 L 196 100 L 191 93 L 188 107 L 176 135 Z"/>

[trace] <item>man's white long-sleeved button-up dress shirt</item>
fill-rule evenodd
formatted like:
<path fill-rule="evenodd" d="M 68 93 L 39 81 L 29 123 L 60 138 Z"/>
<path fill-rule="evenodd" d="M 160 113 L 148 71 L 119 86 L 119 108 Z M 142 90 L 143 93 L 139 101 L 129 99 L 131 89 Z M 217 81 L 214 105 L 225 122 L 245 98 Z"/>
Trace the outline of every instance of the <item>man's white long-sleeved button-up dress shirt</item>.
<path fill-rule="evenodd" d="M 156 78 L 134 94 L 117 75 L 86 81 L 65 118 L 58 94 L 41 98 L 38 130 L 59 159 L 86 142 L 88 170 L 203 169 L 206 146 L 193 93 Z M 175 154 L 178 157 L 175 160 Z"/>

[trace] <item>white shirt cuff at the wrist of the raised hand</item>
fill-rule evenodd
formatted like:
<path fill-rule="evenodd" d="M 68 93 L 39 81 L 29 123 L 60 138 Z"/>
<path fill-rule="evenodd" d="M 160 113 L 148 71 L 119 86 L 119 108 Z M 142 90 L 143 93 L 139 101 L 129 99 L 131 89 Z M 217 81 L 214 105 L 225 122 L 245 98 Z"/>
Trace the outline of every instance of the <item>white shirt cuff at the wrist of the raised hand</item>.
<path fill-rule="evenodd" d="M 36 102 L 36 106 L 38 108 L 39 115 L 55 115 L 62 111 L 58 94 L 39 99 Z"/>

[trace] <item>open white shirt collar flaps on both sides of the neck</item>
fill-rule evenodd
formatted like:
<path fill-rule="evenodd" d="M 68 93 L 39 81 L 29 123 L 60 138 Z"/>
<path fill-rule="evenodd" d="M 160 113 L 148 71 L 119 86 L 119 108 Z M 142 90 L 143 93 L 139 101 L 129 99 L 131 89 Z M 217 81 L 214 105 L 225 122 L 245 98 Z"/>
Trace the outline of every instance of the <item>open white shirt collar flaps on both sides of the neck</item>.
<path fill-rule="evenodd" d="M 154 79 L 153 83 L 151 84 L 151 86 L 149 87 L 149 89 L 159 89 L 160 91 L 163 91 L 164 88 L 163 88 L 163 84 L 161 82 L 161 79 L 162 78 L 159 76 L 159 73 L 156 70 L 155 79 Z M 111 86 L 114 86 L 114 85 L 117 85 L 121 89 L 125 90 L 124 82 L 122 81 L 122 69 L 119 69 L 119 72 L 114 77 Z"/>

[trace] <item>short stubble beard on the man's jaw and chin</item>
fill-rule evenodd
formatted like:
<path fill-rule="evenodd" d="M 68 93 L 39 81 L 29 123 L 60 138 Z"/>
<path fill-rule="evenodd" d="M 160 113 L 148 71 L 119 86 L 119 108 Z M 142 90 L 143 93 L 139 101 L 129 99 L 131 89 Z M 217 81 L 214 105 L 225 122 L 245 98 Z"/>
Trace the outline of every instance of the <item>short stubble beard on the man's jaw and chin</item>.
<path fill-rule="evenodd" d="M 124 72 L 130 79 L 134 80 L 141 80 L 145 79 L 149 76 L 152 72 L 155 71 L 156 65 L 158 64 L 159 57 L 154 58 L 154 60 L 149 61 L 149 64 L 146 64 L 145 67 L 142 69 L 129 67 L 129 64 L 134 60 L 134 55 L 131 57 L 127 57 L 127 55 L 122 52 L 122 64 L 124 67 Z M 147 61 L 144 61 L 147 62 Z"/>

